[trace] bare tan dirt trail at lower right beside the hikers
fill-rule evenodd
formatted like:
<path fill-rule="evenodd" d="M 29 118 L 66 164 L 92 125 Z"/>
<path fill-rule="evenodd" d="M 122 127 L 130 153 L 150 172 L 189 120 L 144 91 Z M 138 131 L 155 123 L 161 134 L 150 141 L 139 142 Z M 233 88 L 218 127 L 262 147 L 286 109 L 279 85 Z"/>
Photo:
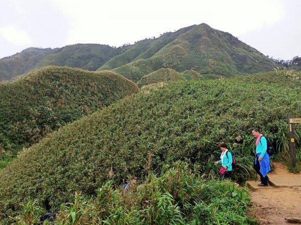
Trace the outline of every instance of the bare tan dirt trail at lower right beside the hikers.
<path fill-rule="evenodd" d="M 289 179 L 296 174 L 288 172 L 281 163 L 273 163 L 273 171 L 268 175 L 272 180 L 272 176 Z M 251 192 L 251 197 L 253 206 L 249 212 L 257 217 L 259 224 L 290 224 L 285 218 L 301 220 L 301 186 L 263 187 Z"/>

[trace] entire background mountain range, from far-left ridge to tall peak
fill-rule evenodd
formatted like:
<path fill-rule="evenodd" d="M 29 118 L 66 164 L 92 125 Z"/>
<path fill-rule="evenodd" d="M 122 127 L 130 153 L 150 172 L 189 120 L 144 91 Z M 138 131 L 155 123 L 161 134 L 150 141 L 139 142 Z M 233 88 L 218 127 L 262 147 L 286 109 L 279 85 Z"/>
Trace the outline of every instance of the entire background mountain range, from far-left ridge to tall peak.
<path fill-rule="evenodd" d="M 178 72 L 194 69 L 202 74 L 229 76 L 263 72 L 276 67 L 270 58 L 255 48 L 230 33 L 213 29 L 205 23 L 118 48 L 103 44 L 68 45 L 41 57 L 41 60 L 28 67 L 14 65 L 13 70 L 18 72 L 12 73 L 7 64 L 17 56 L 22 55 L 1 59 L 4 65 L 0 69 L 0 80 L 47 65 L 87 70 L 109 69 L 134 82 L 160 68 L 172 68 Z M 15 69 L 17 66 L 22 69 Z"/>

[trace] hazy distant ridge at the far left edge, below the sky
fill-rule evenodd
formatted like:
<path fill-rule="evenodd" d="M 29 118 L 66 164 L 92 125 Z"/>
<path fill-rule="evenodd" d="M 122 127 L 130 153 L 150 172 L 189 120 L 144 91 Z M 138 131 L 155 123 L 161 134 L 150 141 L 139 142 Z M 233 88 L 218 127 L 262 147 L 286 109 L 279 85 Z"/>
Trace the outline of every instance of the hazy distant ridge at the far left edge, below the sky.
<path fill-rule="evenodd" d="M 27 72 L 41 58 L 56 52 L 58 49 L 30 47 L 10 57 L 0 59 L 0 81 L 9 80 Z"/>

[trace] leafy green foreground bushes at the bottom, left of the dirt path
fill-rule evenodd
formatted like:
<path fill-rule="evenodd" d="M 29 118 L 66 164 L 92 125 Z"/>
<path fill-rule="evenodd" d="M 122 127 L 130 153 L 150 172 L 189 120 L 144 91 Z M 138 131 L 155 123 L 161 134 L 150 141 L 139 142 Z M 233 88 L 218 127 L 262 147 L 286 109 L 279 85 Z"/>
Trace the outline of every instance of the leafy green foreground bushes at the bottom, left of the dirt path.
<path fill-rule="evenodd" d="M 183 162 L 165 165 L 160 175 L 149 174 L 127 192 L 120 190 L 107 181 L 92 198 L 75 192 L 55 224 L 257 224 L 246 216 L 246 190 L 229 181 L 201 179 Z M 24 210 L 20 217 L 27 214 Z"/>

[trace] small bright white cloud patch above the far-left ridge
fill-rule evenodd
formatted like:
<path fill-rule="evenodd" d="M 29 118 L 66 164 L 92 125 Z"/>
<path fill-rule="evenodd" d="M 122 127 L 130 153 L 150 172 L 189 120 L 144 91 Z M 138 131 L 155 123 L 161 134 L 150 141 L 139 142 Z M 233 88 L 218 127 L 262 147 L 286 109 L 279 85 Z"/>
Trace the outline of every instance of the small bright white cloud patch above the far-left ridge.
<path fill-rule="evenodd" d="M 0 36 L 15 45 L 31 44 L 32 39 L 23 30 L 13 25 L 0 27 Z"/>

